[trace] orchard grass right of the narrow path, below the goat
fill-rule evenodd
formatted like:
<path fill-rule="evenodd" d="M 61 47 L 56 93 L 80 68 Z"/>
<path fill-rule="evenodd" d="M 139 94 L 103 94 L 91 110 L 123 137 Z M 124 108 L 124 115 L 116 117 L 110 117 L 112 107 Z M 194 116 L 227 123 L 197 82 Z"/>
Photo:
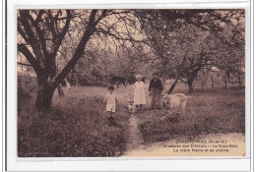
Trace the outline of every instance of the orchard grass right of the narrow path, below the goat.
<path fill-rule="evenodd" d="M 175 92 L 186 92 L 177 87 Z M 175 118 L 168 109 L 138 113 L 139 126 L 145 143 L 162 142 L 180 136 L 193 138 L 217 133 L 244 133 L 244 90 L 195 89 L 186 110 Z M 169 115 L 170 118 L 163 119 Z"/>

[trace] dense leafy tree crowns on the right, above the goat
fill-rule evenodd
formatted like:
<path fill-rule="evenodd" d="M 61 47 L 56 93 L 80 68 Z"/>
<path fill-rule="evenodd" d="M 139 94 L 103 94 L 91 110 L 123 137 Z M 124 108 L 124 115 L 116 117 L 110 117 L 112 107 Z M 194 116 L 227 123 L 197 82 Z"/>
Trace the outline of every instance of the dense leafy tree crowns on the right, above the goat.
<path fill-rule="evenodd" d="M 135 14 L 147 36 L 145 43 L 154 54 L 153 63 L 155 68 L 159 67 L 162 82 L 175 79 L 168 93 L 178 80 L 188 84 L 192 92 L 198 72 L 224 68 L 221 63 L 231 69 L 243 66 L 243 60 L 235 60 L 244 56 L 243 10 L 146 10 Z M 206 78 L 203 80 L 206 83 Z"/>

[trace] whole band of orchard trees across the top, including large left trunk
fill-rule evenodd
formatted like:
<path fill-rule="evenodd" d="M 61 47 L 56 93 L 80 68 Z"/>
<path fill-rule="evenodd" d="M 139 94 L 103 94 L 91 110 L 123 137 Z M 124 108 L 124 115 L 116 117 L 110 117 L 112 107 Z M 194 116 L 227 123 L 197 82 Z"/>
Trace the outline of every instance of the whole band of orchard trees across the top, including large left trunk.
<path fill-rule="evenodd" d="M 68 77 L 124 85 L 160 72 L 193 91 L 217 68 L 228 82 L 244 71 L 243 10 L 20 10 L 18 51 L 37 78 L 37 108 L 49 108 Z M 132 82 L 130 82 L 132 83 Z M 165 85 L 164 85 L 165 86 Z"/>

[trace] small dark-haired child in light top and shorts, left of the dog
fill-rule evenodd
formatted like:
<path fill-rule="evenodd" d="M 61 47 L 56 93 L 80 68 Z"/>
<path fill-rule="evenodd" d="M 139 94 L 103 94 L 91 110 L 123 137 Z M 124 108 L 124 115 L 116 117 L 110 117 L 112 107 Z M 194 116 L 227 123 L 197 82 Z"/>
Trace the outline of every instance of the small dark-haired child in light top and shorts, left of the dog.
<path fill-rule="evenodd" d="M 105 110 L 110 125 L 114 123 L 115 105 L 117 103 L 116 94 L 113 91 L 114 86 L 108 86 L 108 93 L 104 97 L 104 103 L 106 103 Z"/>

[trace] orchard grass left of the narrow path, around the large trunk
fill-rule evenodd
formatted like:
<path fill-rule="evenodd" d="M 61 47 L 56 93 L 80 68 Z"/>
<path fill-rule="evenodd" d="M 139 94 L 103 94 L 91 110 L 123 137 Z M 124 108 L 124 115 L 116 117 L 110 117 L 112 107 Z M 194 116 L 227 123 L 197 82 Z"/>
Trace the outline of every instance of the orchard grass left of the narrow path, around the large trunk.
<path fill-rule="evenodd" d="M 48 112 L 37 112 L 32 97 L 20 98 L 20 157 L 119 156 L 126 149 L 129 115 L 117 107 L 117 126 L 108 125 L 104 87 L 73 87 L 63 98 L 54 95 Z"/>

